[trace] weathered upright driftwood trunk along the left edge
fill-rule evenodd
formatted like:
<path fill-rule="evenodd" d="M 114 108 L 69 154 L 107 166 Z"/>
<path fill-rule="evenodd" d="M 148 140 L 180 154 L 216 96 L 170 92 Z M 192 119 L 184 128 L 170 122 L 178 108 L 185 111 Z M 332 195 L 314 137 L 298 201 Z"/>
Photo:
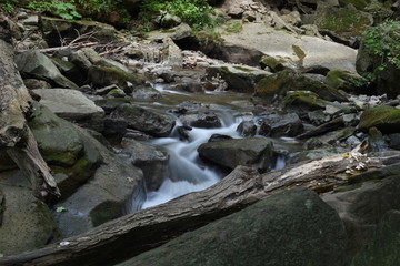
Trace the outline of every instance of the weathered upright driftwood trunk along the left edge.
<path fill-rule="evenodd" d="M 34 196 L 57 197 L 60 192 L 27 125 L 32 99 L 16 68 L 10 34 L 8 20 L 0 14 L 0 149 L 30 178 Z"/>

